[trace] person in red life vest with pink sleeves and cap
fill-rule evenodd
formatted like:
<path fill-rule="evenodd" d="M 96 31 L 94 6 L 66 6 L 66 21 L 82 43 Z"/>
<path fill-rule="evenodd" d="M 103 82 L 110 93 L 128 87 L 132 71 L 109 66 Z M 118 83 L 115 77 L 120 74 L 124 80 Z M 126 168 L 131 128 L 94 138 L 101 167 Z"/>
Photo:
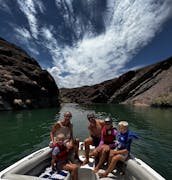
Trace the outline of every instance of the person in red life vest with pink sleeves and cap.
<path fill-rule="evenodd" d="M 107 155 L 109 154 L 110 149 L 114 148 L 114 141 L 116 140 L 117 130 L 113 127 L 113 121 L 111 118 L 106 118 L 104 120 L 105 125 L 101 131 L 101 141 L 99 146 L 89 155 L 94 156 L 95 158 L 99 156 L 99 161 L 94 168 L 94 172 L 96 173 L 105 162 Z"/>

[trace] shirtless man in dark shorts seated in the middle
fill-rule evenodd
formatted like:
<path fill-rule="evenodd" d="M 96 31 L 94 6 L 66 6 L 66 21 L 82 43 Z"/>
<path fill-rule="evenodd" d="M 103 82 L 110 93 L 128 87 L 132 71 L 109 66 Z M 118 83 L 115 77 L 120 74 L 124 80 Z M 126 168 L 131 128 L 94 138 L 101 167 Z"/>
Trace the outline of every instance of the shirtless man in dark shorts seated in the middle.
<path fill-rule="evenodd" d="M 95 147 L 99 145 L 101 139 L 101 130 L 105 124 L 103 120 L 95 119 L 94 114 L 88 114 L 87 118 L 89 121 L 88 130 L 90 137 L 84 140 L 86 159 L 84 160 L 83 165 L 89 162 L 89 152 L 90 152 L 89 145 L 93 145 Z"/>

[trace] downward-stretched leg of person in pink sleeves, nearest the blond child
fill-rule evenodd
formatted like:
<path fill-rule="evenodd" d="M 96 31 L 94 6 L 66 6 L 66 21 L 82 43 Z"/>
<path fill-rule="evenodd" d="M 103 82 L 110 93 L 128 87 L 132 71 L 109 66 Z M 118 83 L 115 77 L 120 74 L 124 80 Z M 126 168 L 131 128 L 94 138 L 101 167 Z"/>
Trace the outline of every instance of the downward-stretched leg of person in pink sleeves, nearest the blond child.
<path fill-rule="evenodd" d="M 102 149 L 100 151 L 99 162 L 98 162 L 98 164 L 96 165 L 96 167 L 93 170 L 94 173 L 97 173 L 98 170 L 103 166 L 105 160 L 108 157 L 109 151 L 110 151 L 110 147 L 108 145 L 103 145 L 102 146 Z"/>

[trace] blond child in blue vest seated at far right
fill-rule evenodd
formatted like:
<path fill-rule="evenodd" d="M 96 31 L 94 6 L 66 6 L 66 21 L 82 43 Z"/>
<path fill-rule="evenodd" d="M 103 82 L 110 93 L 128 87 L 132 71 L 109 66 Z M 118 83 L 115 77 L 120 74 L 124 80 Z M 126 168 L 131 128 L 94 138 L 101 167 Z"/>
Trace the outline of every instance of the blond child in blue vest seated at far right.
<path fill-rule="evenodd" d="M 105 172 L 98 173 L 100 177 L 106 177 L 111 171 L 113 171 L 118 161 L 126 160 L 130 152 L 132 138 L 138 139 L 137 135 L 128 130 L 128 122 L 121 121 L 118 126 L 119 134 L 117 136 L 117 142 L 115 143 L 116 148 L 114 150 L 110 150 L 108 168 Z"/>

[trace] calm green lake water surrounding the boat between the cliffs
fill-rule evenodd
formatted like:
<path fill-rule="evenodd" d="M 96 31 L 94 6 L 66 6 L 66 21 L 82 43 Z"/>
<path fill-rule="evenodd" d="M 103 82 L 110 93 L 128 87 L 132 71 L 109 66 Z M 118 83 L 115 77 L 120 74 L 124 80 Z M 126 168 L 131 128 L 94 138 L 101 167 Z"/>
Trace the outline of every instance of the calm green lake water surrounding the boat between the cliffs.
<path fill-rule="evenodd" d="M 172 109 L 107 104 L 85 107 L 64 104 L 59 109 L 0 112 L 0 170 L 47 146 L 53 123 L 65 111 L 72 112 L 74 134 L 81 140 L 88 136 L 86 115 L 89 112 L 99 118 L 110 114 L 115 123 L 127 120 L 130 130 L 141 136 L 133 142 L 132 153 L 166 179 L 172 178 Z"/>

